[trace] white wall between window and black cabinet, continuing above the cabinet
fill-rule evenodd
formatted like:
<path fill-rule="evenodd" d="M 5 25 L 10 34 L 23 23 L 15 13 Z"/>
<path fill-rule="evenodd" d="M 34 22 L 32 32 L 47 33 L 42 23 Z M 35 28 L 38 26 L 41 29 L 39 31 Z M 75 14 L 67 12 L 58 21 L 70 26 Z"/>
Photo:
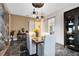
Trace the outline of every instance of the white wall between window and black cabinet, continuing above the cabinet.
<path fill-rule="evenodd" d="M 79 4 L 72 4 L 67 7 L 64 7 L 52 14 L 50 14 L 48 17 L 56 17 L 55 20 L 55 40 L 57 43 L 64 45 L 64 12 L 68 11 L 70 9 L 78 7 Z"/>

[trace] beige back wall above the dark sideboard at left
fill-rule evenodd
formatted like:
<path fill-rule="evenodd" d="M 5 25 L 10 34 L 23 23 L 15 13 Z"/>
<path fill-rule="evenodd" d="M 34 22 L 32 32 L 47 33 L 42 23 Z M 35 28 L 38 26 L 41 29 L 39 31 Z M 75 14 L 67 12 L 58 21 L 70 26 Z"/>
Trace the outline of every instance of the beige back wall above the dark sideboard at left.
<path fill-rule="evenodd" d="M 21 28 L 25 28 L 25 30 L 29 29 L 28 18 L 25 16 L 11 15 L 11 30 L 16 31 L 16 34 Z"/>

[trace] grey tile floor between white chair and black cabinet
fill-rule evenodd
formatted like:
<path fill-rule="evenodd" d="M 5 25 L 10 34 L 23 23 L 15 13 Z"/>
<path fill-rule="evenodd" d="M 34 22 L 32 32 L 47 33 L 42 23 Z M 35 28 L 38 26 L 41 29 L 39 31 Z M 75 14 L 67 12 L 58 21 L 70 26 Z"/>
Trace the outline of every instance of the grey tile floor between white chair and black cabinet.
<path fill-rule="evenodd" d="M 79 52 L 64 48 L 64 46 L 60 44 L 56 44 L 56 56 L 79 56 Z"/>

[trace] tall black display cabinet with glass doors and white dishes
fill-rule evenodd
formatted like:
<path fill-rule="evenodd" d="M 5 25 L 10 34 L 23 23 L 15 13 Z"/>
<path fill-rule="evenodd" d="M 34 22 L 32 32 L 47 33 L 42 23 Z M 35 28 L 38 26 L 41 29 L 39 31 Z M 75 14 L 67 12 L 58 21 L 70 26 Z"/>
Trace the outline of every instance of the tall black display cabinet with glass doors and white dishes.
<path fill-rule="evenodd" d="M 64 45 L 79 51 L 79 7 L 64 13 Z"/>

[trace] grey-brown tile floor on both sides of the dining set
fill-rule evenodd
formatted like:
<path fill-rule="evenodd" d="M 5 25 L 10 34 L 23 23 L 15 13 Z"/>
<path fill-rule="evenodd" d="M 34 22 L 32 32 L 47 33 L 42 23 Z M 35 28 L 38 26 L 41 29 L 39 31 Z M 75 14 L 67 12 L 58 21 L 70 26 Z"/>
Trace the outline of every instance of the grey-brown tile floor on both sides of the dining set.
<path fill-rule="evenodd" d="M 20 46 L 23 45 L 24 42 L 22 43 L 17 43 L 15 42 L 10 49 L 7 51 L 5 56 L 20 56 Z M 60 44 L 56 44 L 56 56 L 79 56 L 79 52 L 64 48 Z"/>

